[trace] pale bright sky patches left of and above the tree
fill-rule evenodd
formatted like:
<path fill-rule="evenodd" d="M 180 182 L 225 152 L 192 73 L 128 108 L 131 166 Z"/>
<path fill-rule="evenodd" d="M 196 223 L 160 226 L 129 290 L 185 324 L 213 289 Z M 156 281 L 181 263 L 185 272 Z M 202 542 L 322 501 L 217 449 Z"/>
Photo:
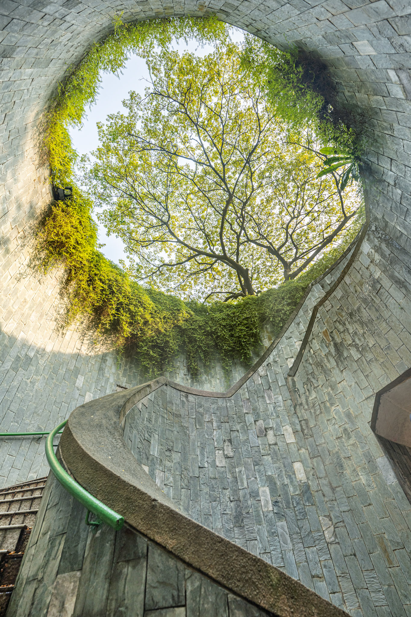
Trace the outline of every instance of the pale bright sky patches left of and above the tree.
<path fill-rule="evenodd" d="M 239 43 L 243 41 L 244 33 L 238 28 L 232 28 L 230 35 L 233 41 Z M 195 41 L 190 41 L 188 45 L 184 41 L 175 42 L 173 49 L 178 49 L 181 53 L 184 51 L 197 52 L 198 56 L 205 56 L 213 51 L 211 45 L 205 45 L 203 48 Z M 97 137 L 97 122 L 105 122 L 108 114 L 114 114 L 123 110 L 122 101 L 128 98 L 130 90 L 135 90 L 137 93 L 144 95 L 144 88 L 147 86 L 149 71 L 144 60 L 137 56 L 132 56 L 126 66 L 123 68 L 123 75 L 120 78 L 115 77 L 111 73 L 103 75 L 102 83 L 99 89 L 97 103 L 91 110 L 87 111 L 87 117 L 84 118 L 83 128 L 80 130 L 71 129 L 71 141 L 76 151 L 82 155 L 96 149 L 99 145 Z M 99 223 L 99 242 L 105 244 L 100 251 L 115 263 L 119 259 L 124 259 L 127 262 L 124 253 L 124 245 L 120 238 L 111 235 L 107 236 L 105 228 Z"/>

